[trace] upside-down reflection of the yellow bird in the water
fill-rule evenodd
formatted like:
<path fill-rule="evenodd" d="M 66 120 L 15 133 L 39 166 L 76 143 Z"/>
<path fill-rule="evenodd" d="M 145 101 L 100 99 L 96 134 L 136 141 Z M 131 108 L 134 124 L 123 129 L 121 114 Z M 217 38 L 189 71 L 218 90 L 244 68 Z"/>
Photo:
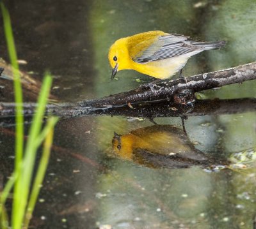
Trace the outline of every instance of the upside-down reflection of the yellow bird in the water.
<path fill-rule="evenodd" d="M 150 168 L 209 165 L 209 158 L 195 149 L 184 131 L 170 125 L 148 126 L 126 135 L 115 133 L 112 146 L 120 158 Z"/>

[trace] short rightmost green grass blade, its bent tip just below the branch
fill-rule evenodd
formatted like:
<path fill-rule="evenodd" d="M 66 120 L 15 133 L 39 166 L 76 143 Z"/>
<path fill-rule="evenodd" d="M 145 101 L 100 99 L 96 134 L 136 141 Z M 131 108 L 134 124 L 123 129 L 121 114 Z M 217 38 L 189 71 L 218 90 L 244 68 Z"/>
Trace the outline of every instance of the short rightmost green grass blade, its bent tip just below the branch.
<path fill-rule="evenodd" d="M 38 194 L 40 191 L 40 187 L 44 180 L 45 171 L 48 165 L 49 156 L 51 152 L 52 140 L 53 140 L 53 132 L 54 132 L 54 125 L 58 121 L 58 118 L 51 117 L 48 122 L 47 126 L 44 128 L 44 133 L 46 134 L 45 142 L 44 142 L 44 149 L 42 153 L 42 158 L 40 159 L 40 164 L 36 173 L 35 181 L 33 184 L 33 188 L 31 191 L 31 196 L 29 198 L 28 207 L 26 211 L 26 216 L 24 219 L 24 228 L 28 228 L 29 221 L 32 217 L 32 212 L 35 208 L 36 200 L 38 198 Z"/>

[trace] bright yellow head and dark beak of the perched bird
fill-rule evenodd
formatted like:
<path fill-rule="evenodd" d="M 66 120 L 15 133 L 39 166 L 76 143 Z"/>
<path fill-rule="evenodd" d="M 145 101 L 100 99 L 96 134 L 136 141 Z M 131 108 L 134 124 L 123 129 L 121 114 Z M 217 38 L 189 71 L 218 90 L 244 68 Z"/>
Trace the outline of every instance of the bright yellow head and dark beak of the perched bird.
<path fill-rule="evenodd" d="M 129 69 L 131 57 L 127 49 L 127 38 L 121 38 L 109 48 L 108 53 L 109 64 L 112 67 L 111 80 L 115 78 L 116 72 L 124 69 Z"/>

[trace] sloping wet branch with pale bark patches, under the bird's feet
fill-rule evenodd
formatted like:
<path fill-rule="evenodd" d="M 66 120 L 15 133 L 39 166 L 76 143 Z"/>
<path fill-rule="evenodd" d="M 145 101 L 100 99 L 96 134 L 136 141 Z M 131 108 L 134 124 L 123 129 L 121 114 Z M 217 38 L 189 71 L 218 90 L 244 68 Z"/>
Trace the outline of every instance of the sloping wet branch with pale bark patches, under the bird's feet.
<path fill-rule="evenodd" d="M 157 92 L 152 92 L 149 87 L 138 87 L 131 91 L 121 92 L 97 100 L 81 101 L 77 103 L 77 106 L 84 108 L 89 106 L 94 108 L 111 108 L 119 107 L 120 105 L 127 106 L 128 103 L 133 105 L 141 102 L 157 103 L 164 100 L 173 102 L 175 94 L 183 89 L 199 92 L 254 79 L 256 79 L 256 62 L 188 77 L 187 82 L 183 78 L 164 80 L 154 85 L 154 89 Z"/>

